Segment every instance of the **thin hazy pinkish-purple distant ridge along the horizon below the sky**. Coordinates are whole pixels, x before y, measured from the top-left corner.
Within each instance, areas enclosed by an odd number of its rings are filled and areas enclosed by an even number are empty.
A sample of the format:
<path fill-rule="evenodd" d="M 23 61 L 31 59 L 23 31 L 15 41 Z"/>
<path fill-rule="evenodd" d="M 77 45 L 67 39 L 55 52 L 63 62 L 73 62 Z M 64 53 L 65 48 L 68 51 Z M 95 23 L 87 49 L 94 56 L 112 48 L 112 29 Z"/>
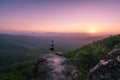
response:
<path fill-rule="evenodd" d="M 24 31 L 0 31 L 0 34 L 26 35 L 26 36 L 89 36 L 88 33 L 60 33 L 60 32 L 24 32 Z"/>

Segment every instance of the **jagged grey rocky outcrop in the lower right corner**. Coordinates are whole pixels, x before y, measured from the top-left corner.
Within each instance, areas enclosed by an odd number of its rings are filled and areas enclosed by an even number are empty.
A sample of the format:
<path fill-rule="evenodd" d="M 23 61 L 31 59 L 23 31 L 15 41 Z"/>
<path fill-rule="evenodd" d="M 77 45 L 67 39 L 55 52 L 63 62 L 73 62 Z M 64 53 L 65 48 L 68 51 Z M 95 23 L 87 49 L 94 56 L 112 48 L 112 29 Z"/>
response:
<path fill-rule="evenodd" d="M 100 60 L 90 70 L 89 80 L 120 80 L 120 49 L 114 49 L 108 55 L 109 60 Z"/>

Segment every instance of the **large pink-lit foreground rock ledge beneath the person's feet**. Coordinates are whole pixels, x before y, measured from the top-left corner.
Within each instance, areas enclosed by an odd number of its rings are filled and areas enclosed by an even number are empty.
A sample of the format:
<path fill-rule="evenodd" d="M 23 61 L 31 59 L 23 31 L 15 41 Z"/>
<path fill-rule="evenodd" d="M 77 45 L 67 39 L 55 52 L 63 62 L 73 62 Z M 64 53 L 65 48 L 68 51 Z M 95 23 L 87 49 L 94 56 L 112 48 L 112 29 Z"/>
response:
<path fill-rule="evenodd" d="M 77 71 L 69 60 L 56 54 L 40 55 L 32 80 L 77 80 Z"/>

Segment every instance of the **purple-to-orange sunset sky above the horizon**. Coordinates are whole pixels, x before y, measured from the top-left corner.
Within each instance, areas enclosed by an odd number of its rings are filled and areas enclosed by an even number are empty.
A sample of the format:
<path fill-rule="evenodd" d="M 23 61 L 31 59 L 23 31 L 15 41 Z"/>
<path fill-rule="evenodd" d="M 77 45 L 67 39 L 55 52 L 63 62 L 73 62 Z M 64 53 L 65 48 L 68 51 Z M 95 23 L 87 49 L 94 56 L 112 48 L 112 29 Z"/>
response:
<path fill-rule="evenodd" d="M 120 0 L 0 0 L 0 31 L 120 33 Z"/>

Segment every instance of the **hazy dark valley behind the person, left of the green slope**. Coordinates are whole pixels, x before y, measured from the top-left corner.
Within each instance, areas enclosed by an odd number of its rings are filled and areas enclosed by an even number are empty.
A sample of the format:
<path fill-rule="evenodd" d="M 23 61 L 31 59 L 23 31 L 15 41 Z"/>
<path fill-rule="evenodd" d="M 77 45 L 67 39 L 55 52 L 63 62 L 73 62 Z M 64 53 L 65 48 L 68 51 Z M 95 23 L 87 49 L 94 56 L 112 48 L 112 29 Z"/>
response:
<path fill-rule="evenodd" d="M 37 57 L 49 52 L 50 40 L 56 51 L 67 52 L 102 38 L 0 34 L 0 80 L 29 80 Z"/>

